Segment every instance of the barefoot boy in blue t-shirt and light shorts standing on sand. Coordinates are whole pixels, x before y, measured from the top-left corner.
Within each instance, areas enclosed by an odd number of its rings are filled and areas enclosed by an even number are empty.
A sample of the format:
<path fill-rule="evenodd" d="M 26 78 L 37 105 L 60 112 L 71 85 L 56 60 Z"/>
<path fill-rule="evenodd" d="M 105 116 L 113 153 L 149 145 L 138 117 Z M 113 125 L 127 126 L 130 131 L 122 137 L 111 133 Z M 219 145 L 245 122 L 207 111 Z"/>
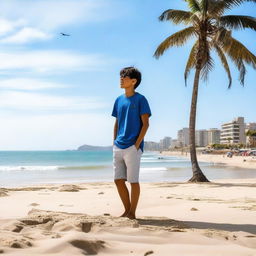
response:
<path fill-rule="evenodd" d="M 136 92 L 141 82 L 141 73 L 134 67 L 120 71 L 120 87 L 125 93 L 114 104 L 113 167 L 117 191 L 124 205 L 120 217 L 136 219 L 136 208 L 140 196 L 139 171 L 143 153 L 144 136 L 149 127 L 151 110 L 147 99 Z M 131 184 L 131 194 L 126 186 Z"/>

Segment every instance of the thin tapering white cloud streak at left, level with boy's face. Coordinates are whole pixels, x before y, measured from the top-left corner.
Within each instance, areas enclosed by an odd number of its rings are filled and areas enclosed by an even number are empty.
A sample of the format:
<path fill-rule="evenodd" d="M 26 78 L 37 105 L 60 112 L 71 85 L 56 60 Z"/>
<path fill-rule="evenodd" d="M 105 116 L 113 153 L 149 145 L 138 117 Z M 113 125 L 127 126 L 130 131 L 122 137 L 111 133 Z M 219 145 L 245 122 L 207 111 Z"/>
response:
<path fill-rule="evenodd" d="M 68 85 L 31 78 L 11 78 L 0 80 L 0 88 L 12 90 L 43 90 L 64 87 L 68 87 Z"/>

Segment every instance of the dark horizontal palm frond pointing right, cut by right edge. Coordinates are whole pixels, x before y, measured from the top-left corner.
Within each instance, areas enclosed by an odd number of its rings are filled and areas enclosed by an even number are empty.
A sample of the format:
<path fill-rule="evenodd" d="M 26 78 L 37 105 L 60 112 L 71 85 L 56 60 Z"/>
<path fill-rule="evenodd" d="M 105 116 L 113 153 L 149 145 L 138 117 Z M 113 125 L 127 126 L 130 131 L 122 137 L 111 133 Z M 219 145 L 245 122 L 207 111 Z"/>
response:
<path fill-rule="evenodd" d="M 250 28 L 256 30 L 256 18 L 251 16 L 226 15 L 219 19 L 220 25 L 227 29 Z"/>

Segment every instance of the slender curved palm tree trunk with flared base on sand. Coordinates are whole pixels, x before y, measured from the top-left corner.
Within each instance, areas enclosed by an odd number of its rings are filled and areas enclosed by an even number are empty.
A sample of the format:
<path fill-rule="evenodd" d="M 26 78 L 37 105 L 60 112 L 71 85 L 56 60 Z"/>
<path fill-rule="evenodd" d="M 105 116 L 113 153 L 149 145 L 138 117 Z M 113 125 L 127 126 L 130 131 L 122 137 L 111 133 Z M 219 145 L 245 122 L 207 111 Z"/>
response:
<path fill-rule="evenodd" d="M 191 109 L 190 109 L 190 121 L 189 121 L 189 144 L 190 144 L 190 158 L 192 164 L 193 177 L 189 182 L 209 182 L 201 171 L 196 157 L 196 138 L 195 138 L 195 127 L 196 127 L 196 108 L 197 108 L 197 97 L 198 97 L 198 86 L 200 79 L 201 69 L 197 68 L 194 79 Z"/>

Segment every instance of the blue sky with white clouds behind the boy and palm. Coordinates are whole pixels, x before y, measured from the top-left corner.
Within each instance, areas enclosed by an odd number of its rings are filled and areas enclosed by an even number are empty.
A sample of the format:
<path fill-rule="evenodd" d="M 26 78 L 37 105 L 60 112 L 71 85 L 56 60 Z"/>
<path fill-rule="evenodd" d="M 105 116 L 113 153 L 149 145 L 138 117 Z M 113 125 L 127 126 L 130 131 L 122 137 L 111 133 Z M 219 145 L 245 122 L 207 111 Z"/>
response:
<path fill-rule="evenodd" d="M 194 73 L 187 87 L 183 74 L 193 40 L 153 57 L 157 46 L 182 28 L 159 22 L 166 9 L 187 7 L 183 0 L 1 0 L 0 150 L 111 145 L 111 112 L 124 93 L 119 71 L 126 66 L 142 72 L 137 91 L 151 107 L 145 140 L 175 139 L 188 127 Z M 256 5 L 246 3 L 229 13 L 256 16 Z M 256 54 L 255 31 L 233 36 Z M 230 63 L 228 90 L 226 74 L 214 59 L 209 80 L 200 84 L 196 128 L 220 128 L 237 116 L 256 122 L 255 70 L 247 67 L 242 87 Z"/>

